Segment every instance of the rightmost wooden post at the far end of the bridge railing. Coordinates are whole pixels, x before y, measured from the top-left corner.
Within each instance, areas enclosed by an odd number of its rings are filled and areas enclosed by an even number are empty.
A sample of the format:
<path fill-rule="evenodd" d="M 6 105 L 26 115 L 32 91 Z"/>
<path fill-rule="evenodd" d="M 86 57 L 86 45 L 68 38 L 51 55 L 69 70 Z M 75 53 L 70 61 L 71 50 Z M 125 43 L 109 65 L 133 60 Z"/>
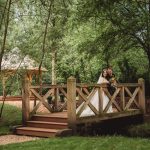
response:
<path fill-rule="evenodd" d="M 146 107 L 145 107 L 145 82 L 144 79 L 140 78 L 138 80 L 138 83 L 140 84 L 140 90 L 139 90 L 139 104 L 140 107 L 145 114 L 146 112 Z"/>

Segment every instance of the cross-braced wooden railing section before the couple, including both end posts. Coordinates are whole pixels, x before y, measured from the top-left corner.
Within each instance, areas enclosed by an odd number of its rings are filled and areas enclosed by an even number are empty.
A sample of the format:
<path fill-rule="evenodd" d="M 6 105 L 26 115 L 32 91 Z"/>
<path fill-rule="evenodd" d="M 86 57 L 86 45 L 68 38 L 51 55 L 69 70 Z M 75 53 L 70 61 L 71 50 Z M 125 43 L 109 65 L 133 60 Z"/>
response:
<path fill-rule="evenodd" d="M 115 91 L 110 94 L 107 84 L 77 84 L 76 79 L 70 77 L 67 81 L 67 110 L 68 122 L 71 128 L 81 118 L 98 118 L 107 113 L 123 113 L 127 111 L 140 110 L 145 113 L 145 89 L 144 80 L 138 83 L 118 83 Z M 78 108 L 76 109 L 76 98 L 78 97 Z M 92 101 L 97 100 L 95 105 Z M 104 106 L 105 98 L 108 102 Z M 110 111 L 111 110 L 111 111 Z M 84 113 L 90 112 L 90 115 Z M 83 115 L 82 115 L 83 114 Z"/>

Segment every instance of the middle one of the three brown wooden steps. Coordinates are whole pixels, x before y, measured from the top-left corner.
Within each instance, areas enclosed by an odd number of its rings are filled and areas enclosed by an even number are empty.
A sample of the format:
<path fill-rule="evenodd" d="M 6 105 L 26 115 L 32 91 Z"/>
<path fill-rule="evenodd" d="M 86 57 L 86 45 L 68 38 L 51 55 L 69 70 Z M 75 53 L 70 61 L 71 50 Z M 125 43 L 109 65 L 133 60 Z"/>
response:
<path fill-rule="evenodd" d="M 48 128 L 48 129 L 65 129 L 68 123 L 62 122 L 44 122 L 44 121 L 27 121 L 28 127 Z"/>

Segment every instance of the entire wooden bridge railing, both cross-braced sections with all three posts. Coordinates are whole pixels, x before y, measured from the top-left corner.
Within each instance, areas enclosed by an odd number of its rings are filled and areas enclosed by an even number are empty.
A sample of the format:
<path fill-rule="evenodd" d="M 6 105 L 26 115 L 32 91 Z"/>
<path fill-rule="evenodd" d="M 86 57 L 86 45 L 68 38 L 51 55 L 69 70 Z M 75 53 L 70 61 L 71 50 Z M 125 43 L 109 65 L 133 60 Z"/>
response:
<path fill-rule="evenodd" d="M 110 94 L 107 84 L 78 84 L 73 77 L 68 78 L 67 85 L 32 86 L 29 80 L 25 80 L 23 85 L 24 123 L 36 113 L 40 105 L 44 105 L 50 113 L 67 110 L 68 123 L 72 128 L 87 107 L 93 113 L 93 117 L 107 114 L 110 108 L 113 110 L 111 113 L 135 109 L 145 112 L 143 79 L 139 79 L 138 83 L 119 83 L 113 94 Z M 97 95 L 96 106 L 91 101 L 94 95 Z M 103 106 L 104 95 L 109 99 L 105 107 Z M 30 100 L 33 96 L 35 102 L 31 109 Z"/>

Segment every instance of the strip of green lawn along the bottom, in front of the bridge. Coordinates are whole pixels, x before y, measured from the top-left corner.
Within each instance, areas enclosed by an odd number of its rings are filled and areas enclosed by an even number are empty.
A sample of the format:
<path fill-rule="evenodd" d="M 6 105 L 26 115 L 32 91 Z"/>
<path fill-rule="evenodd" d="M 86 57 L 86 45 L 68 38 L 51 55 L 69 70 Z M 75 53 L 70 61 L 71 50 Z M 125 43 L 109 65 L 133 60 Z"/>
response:
<path fill-rule="evenodd" d="M 148 150 L 150 139 L 122 136 L 48 138 L 1 145 L 0 150 Z"/>

